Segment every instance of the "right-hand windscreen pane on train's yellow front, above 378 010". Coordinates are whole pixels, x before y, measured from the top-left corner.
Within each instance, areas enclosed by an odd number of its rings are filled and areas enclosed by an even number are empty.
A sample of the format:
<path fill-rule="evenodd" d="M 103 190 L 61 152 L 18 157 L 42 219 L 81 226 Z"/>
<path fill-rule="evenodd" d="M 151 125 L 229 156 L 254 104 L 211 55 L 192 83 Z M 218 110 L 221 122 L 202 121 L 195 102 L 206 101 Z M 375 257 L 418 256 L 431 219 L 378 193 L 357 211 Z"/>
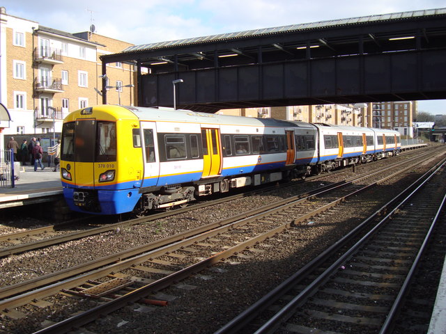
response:
<path fill-rule="evenodd" d="M 98 122 L 97 145 L 96 162 L 116 161 L 116 123 Z"/>

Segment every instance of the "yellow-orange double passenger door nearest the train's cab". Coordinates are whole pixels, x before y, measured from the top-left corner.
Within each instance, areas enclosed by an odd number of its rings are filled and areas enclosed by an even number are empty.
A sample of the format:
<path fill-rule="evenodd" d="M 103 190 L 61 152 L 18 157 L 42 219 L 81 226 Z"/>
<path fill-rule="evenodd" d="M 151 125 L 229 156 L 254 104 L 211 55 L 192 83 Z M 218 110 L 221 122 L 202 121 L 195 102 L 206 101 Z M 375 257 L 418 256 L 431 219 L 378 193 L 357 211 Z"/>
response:
<path fill-rule="evenodd" d="M 220 175 L 222 173 L 222 145 L 220 130 L 201 128 L 203 142 L 203 174 L 201 177 Z"/>

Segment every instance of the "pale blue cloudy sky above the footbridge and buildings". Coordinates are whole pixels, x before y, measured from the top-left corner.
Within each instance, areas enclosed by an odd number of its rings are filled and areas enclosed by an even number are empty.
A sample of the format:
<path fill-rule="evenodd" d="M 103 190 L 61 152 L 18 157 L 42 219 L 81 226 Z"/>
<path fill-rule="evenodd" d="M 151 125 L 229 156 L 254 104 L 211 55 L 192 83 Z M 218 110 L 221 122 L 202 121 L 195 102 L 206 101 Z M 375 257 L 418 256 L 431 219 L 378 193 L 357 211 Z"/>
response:
<path fill-rule="evenodd" d="M 331 19 L 445 8 L 445 0 L 2 0 L 8 15 L 135 45 Z M 418 111 L 446 115 L 446 100 Z"/>

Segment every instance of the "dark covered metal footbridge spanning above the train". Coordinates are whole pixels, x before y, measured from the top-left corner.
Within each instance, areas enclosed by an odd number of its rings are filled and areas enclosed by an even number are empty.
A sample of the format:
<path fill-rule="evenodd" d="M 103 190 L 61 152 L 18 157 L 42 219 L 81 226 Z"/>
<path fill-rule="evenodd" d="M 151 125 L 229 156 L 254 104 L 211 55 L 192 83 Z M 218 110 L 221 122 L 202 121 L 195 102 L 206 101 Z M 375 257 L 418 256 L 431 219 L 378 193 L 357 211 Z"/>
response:
<path fill-rule="evenodd" d="M 446 8 L 136 45 L 137 104 L 195 111 L 446 99 Z M 105 80 L 102 102 L 107 102 Z M 175 89 L 174 89 L 175 90 Z"/>

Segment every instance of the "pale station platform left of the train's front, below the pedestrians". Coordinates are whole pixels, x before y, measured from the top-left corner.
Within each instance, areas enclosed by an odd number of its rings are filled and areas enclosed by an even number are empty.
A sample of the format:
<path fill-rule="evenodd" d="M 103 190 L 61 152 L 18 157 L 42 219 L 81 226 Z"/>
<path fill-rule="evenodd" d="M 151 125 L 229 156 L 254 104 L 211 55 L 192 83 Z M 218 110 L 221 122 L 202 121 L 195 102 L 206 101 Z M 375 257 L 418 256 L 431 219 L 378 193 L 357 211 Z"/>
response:
<path fill-rule="evenodd" d="M 23 205 L 24 201 L 31 204 L 47 196 L 63 196 L 60 172 L 53 172 L 53 167 L 45 166 L 35 172 L 34 166 L 20 166 L 15 175 L 19 179 L 15 180 L 14 188 L 0 187 L 0 209 L 16 206 L 14 203 Z"/>

